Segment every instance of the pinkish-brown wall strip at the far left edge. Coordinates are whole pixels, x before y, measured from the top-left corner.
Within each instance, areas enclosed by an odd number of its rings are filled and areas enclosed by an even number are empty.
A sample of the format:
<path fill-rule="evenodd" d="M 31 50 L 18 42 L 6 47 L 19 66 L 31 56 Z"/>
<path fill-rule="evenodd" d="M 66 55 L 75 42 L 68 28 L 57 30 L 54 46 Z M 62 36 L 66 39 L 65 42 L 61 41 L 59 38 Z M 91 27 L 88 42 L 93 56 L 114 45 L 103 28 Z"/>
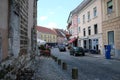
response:
<path fill-rule="evenodd" d="M 8 0 L 0 0 L 0 62 L 8 55 Z"/>

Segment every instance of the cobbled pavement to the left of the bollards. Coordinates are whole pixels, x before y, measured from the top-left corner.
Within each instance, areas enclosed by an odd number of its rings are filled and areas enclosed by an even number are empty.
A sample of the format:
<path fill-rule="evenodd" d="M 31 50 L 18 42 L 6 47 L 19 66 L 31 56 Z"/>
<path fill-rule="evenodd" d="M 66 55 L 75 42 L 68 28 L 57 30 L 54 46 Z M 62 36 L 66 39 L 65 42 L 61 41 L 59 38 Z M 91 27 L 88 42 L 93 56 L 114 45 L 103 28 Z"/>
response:
<path fill-rule="evenodd" d="M 50 57 L 39 57 L 34 68 L 34 80 L 71 80 L 70 75 Z"/>

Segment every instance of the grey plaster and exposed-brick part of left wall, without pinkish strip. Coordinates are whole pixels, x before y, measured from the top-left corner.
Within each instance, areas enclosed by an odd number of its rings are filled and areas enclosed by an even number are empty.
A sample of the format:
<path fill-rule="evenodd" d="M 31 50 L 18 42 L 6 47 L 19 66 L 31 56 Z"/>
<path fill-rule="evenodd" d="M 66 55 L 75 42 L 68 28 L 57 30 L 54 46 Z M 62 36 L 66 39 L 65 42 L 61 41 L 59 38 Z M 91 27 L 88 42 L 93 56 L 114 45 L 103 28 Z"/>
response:
<path fill-rule="evenodd" d="M 17 57 L 36 49 L 37 0 L 11 0 L 9 3 L 9 51 Z"/>

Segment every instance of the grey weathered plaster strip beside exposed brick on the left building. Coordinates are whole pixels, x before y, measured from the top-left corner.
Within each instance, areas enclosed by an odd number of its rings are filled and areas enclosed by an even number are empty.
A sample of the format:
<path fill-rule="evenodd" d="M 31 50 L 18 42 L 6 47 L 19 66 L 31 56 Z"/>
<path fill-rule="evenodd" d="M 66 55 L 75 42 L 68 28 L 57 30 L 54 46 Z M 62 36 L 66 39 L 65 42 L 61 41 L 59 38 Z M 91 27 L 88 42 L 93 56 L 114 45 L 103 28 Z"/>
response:
<path fill-rule="evenodd" d="M 20 4 L 18 0 L 9 1 L 9 55 L 18 56 L 20 50 Z"/>

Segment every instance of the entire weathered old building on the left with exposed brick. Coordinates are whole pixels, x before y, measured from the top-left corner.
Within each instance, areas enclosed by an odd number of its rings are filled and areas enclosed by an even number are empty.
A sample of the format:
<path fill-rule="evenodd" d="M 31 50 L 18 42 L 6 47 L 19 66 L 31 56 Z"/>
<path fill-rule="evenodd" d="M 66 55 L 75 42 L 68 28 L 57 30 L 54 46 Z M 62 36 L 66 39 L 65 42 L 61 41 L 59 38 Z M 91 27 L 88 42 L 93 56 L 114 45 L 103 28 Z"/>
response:
<path fill-rule="evenodd" d="M 36 50 L 37 0 L 1 0 L 0 61 Z"/>

